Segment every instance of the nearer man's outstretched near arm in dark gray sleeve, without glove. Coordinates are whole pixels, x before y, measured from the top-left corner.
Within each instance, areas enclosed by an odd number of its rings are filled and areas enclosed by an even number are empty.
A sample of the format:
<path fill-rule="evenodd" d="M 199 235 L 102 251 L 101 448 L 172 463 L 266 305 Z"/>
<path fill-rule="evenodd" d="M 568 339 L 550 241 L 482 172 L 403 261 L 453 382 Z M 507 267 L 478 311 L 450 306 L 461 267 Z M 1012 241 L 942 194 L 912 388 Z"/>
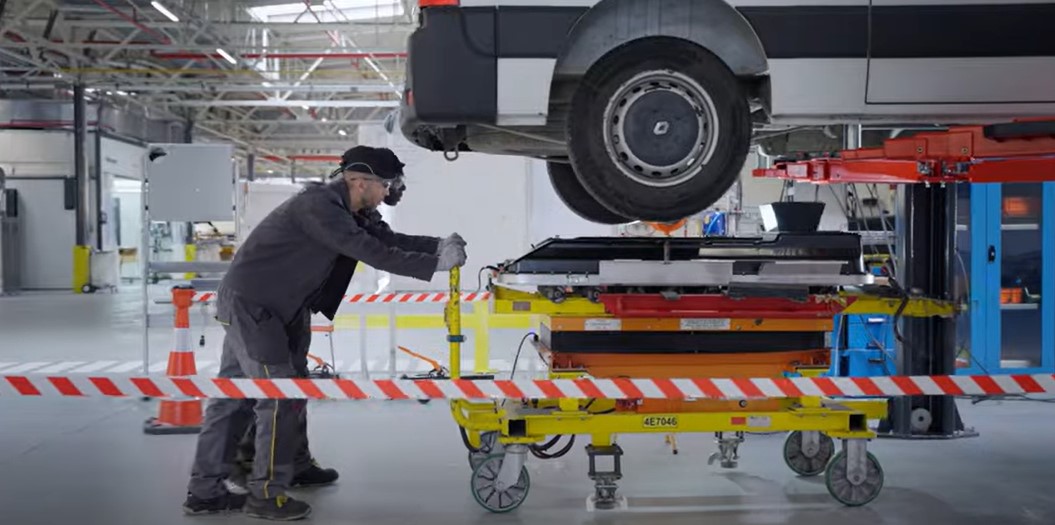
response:
<path fill-rule="evenodd" d="M 305 235 L 337 253 L 378 270 L 430 280 L 439 258 L 389 246 L 364 230 L 344 208 L 340 197 L 325 189 L 308 190 L 295 197 L 290 212 Z"/>

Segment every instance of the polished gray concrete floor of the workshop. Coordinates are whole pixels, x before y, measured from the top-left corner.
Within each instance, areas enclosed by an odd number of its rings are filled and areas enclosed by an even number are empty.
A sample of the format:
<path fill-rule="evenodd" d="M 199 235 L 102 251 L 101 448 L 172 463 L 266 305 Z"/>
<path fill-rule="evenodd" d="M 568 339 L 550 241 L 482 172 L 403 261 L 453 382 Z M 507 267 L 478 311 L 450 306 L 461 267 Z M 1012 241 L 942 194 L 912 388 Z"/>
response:
<path fill-rule="evenodd" d="M 35 362 L 135 361 L 136 300 L 124 293 L 0 297 L 0 374 L 4 367 L 33 373 L 41 367 L 24 364 Z M 153 331 L 155 347 L 166 348 L 168 329 Z M 517 341 L 509 334 L 495 346 Z M 592 485 L 580 441 L 561 460 L 531 461 L 526 502 L 497 516 L 469 495 L 465 451 L 442 404 L 316 403 L 312 449 L 342 479 L 295 495 L 313 504 L 310 520 L 320 524 L 1055 523 L 1055 404 L 964 401 L 961 408 L 979 438 L 870 444 L 886 483 L 862 508 L 836 503 L 822 479 L 791 473 L 781 460 L 781 435 L 749 435 L 736 470 L 707 465 L 713 451 L 707 435 L 679 438 L 678 455 L 660 436 L 628 435 L 619 440 L 628 510 L 587 511 Z M 141 423 L 155 410 L 152 402 L 132 400 L 0 396 L 0 523 L 258 523 L 181 514 L 194 438 L 145 435 Z"/>

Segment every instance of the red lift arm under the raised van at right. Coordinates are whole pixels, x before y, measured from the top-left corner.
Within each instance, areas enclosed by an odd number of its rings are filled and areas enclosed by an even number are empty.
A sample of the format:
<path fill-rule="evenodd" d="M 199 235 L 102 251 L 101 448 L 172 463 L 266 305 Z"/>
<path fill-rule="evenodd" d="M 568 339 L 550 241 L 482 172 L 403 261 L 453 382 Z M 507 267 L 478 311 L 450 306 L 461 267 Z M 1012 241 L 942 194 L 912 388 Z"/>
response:
<path fill-rule="evenodd" d="M 951 128 L 838 156 L 778 161 L 755 177 L 814 183 L 1055 180 L 1055 119 Z"/>

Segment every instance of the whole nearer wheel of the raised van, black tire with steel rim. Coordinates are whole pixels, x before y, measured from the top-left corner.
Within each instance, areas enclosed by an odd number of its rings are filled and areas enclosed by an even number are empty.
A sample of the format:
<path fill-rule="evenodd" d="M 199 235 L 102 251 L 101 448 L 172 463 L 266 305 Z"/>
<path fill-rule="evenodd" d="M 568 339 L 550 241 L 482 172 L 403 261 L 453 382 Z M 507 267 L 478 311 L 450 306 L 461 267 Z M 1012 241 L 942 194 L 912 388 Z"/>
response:
<path fill-rule="evenodd" d="M 683 219 L 721 198 L 751 140 L 736 77 L 710 52 L 673 38 L 631 42 L 594 64 L 568 122 L 586 190 L 612 212 L 654 221 Z"/>

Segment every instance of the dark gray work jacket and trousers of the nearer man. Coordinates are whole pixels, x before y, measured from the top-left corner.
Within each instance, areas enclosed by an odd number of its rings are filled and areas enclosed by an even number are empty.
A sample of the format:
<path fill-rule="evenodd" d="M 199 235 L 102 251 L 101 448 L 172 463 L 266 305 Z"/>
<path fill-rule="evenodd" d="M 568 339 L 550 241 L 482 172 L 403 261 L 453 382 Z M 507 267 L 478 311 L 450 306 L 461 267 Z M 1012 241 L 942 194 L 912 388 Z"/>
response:
<path fill-rule="evenodd" d="M 216 319 L 226 333 L 220 375 L 303 375 L 301 352 L 310 337 L 305 318 L 319 312 L 333 319 L 359 261 L 430 280 L 439 240 L 395 233 L 384 222 L 352 213 L 344 179 L 309 186 L 253 230 L 220 283 Z M 303 443 L 299 422 L 305 405 L 304 400 L 211 400 L 188 490 L 202 499 L 224 494 L 223 481 L 244 435 L 238 429 L 246 428 L 245 417 L 255 416 L 249 491 L 260 499 L 284 494 Z"/>

